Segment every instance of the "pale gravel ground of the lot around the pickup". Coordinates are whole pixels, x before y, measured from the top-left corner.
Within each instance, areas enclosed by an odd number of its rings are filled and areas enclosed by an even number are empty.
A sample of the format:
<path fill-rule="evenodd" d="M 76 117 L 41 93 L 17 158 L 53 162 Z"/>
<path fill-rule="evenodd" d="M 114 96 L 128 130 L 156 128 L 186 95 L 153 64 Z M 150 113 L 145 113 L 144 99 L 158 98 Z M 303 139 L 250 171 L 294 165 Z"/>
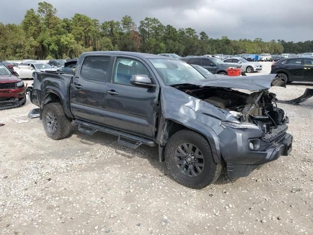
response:
<path fill-rule="evenodd" d="M 267 74 L 271 63 L 262 64 L 248 75 Z M 271 91 L 292 99 L 308 87 Z M 0 234 L 312 235 L 313 98 L 279 106 L 290 118 L 291 154 L 201 190 L 169 177 L 157 148 L 132 150 L 75 126 L 53 141 L 39 118 L 27 118 L 29 100 L 0 111 Z"/>

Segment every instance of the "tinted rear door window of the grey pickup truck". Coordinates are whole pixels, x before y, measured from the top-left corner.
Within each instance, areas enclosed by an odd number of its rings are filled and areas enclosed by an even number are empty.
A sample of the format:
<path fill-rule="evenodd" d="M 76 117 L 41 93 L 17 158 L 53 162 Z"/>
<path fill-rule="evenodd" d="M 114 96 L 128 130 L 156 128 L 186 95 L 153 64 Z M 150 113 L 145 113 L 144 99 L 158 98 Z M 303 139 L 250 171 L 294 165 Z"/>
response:
<path fill-rule="evenodd" d="M 110 70 L 110 56 L 88 56 L 85 58 L 81 75 L 85 78 L 106 81 Z"/>

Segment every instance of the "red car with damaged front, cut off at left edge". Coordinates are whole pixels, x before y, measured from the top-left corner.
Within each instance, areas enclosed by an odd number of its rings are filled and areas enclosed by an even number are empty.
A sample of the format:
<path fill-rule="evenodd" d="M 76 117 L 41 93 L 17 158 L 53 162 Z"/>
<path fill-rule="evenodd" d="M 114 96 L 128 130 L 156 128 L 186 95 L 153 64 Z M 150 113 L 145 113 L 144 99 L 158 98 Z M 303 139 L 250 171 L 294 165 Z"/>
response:
<path fill-rule="evenodd" d="M 26 86 L 5 65 L 0 64 L 0 110 L 15 108 L 26 103 Z"/>

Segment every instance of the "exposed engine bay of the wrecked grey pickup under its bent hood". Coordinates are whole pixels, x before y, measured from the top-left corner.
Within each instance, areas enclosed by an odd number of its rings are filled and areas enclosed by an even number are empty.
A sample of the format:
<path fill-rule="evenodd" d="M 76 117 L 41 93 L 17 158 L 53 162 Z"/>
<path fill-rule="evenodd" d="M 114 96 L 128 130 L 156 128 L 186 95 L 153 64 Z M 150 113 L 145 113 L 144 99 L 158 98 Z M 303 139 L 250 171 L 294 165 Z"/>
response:
<path fill-rule="evenodd" d="M 284 110 L 276 105 L 276 95 L 261 90 L 251 94 L 228 88 L 179 86 L 180 91 L 224 109 L 241 122 L 257 125 L 265 134 L 270 134 L 282 124 L 288 123 Z"/>

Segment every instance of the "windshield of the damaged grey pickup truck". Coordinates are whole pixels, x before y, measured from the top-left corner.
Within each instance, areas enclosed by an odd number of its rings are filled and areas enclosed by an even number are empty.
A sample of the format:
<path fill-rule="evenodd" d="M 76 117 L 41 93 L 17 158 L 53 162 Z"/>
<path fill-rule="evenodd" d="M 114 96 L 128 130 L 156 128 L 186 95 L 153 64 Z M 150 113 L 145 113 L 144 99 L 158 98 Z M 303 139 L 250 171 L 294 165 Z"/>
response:
<path fill-rule="evenodd" d="M 205 79 L 200 72 L 186 62 L 156 58 L 150 58 L 149 60 L 166 86 Z"/>

